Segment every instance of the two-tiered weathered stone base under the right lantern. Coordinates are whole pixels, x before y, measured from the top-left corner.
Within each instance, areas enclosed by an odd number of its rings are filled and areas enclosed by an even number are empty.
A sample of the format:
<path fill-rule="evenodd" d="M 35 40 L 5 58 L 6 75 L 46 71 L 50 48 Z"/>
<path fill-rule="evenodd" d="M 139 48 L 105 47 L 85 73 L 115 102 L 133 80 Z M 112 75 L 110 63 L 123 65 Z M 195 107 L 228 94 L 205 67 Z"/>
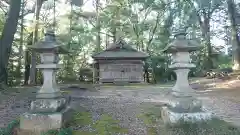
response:
<path fill-rule="evenodd" d="M 199 100 L 192 96 L 175 96 L 168 106 L 162 107 L 161 117 L 165 124 L 175 126 L 181 122 L 201 122 L 211 120 L 212 113 L 204 112 Z"/>

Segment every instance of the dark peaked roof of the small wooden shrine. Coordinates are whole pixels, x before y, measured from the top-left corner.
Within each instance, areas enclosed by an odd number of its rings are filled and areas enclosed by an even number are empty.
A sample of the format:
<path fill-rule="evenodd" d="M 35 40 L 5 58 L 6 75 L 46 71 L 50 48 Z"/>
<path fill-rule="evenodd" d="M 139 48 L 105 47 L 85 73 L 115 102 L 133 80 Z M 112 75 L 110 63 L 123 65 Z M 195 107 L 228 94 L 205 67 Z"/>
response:
<path fill-rule="evenodd" d="M 138 58 L 145 59 L 148 55 L 144 52 L 137 51 L 120 39 L 114 44 L 111 44 L 106 50 L 92 56 L 94 59 L 119 59 L 119 58 Z"/>

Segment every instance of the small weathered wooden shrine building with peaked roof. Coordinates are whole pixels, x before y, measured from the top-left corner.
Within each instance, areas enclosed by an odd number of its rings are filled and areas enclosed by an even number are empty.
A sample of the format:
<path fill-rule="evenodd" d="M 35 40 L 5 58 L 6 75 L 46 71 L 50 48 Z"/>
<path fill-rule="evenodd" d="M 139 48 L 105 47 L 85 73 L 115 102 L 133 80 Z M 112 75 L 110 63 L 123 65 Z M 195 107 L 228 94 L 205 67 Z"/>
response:
<path fill-rule="evenodd" d="M 99 83 L 144 82 L 143 66 L 147 57 L 122 39 L 92 56 Z"/>

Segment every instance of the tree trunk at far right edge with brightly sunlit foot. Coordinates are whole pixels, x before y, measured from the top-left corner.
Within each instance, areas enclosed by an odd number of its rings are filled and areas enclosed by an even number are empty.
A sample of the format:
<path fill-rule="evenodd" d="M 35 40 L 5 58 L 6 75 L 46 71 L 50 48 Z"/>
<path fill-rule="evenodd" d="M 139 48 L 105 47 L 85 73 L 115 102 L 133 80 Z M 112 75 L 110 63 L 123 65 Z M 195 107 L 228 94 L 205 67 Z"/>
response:
<path fill-rule="evenodd" d="M 236 22 L 236 5 L 233 0 L 227 0 L 228 16 L 232 29 L 232 46 L 233 46 L 233 70 L 240 70 L 240 40 L 237 34 Z"/>

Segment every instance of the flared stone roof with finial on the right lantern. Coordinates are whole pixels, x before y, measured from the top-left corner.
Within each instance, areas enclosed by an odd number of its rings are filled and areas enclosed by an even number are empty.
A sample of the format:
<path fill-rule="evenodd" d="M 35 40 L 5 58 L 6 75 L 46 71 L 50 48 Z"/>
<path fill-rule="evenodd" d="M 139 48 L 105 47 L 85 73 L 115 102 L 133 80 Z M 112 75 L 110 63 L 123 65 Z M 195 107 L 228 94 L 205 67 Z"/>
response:
<path fill-rule="evenodd" d="M 185 32 L 179 32 L 175 34 L 175 40 L 167 45 L 163 52 L 165 53 L 176 53 L 176 52 L 192 52 L 202 48 L 200 44 L 198 44 L 194 40 L 186 39 Z"/>

